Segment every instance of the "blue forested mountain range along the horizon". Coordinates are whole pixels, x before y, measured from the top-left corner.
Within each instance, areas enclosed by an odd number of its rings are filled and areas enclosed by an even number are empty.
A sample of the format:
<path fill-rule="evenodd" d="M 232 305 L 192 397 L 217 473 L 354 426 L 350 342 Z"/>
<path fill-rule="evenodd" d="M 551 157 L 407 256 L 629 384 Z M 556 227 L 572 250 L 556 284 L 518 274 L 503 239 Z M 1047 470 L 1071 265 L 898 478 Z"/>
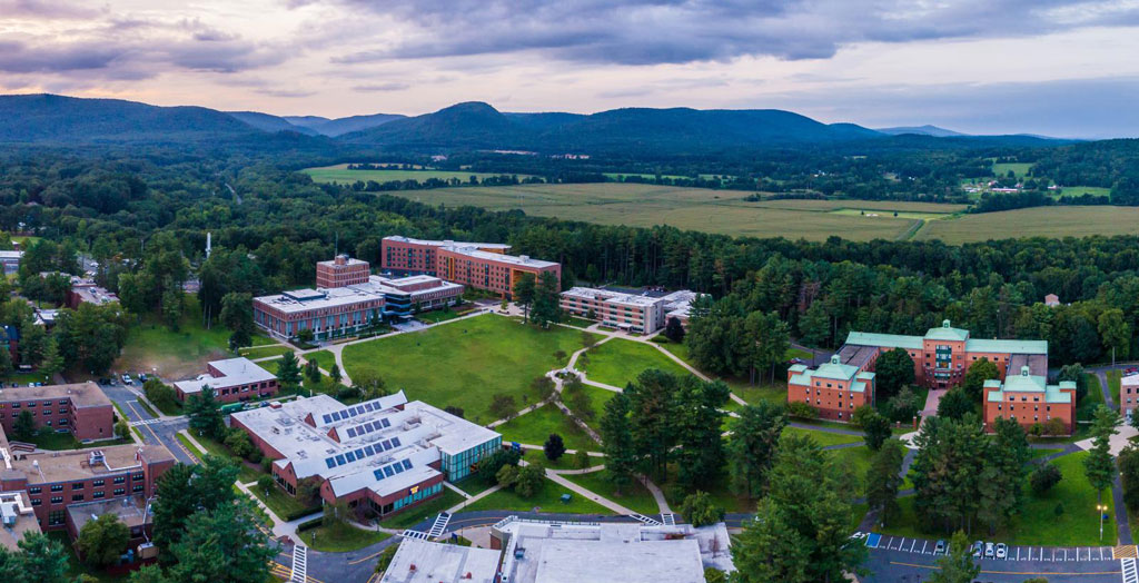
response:
<path fill-rule="evenodd" d="M 349 149 L 622 155 L 714 154 L 916 137 L 921 137 L 921 143 L 931 138 L 937 139 L 933 143 L 942 139 L 973 139 L 932 125 L 871 130 L 850 123 L 826 124 L 779 109 L 622 108 L 585 115 L 502 113 L 487 104 L 472 101 L 412 117 L 374 114 L 333 120 L 205 107 L 158 107 L 118 99 L 0 96 L 0 142 L 208 143 L 269 137 L 274 137 L 278 145 L 287 142 L 306 148 L 330 145 Z M 1009 138 L 1017 143 L 1039 139 Z"/>

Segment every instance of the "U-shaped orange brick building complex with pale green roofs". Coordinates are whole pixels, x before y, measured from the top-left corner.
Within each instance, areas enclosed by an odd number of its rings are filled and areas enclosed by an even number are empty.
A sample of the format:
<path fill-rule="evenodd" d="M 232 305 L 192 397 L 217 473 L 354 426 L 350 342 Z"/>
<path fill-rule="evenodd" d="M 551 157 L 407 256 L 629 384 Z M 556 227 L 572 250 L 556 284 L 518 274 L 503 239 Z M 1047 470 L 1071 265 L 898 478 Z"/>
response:
<path fill-rule="evenodd" d="M 1048 385 L 1048 343 L 970 338 L 949 320 L 925 336 L 850 332 L 830 362 L 817 369 L 795 364 L 787 370 L 787 399 L 810 404 L 826 419 L 849 420 L 854 409 L 875 402 L 875 363 L 884 352 L 901 348 L 913 361 L 916 383 L 947 389 L 961 384 L 982 359 L 997 364 L 999 378 L 984 387 L 984 421 L 1015 418 L 1021 425 L 1059 418 L 1071 432 L 1075 424 L 1075 385 Z"/>

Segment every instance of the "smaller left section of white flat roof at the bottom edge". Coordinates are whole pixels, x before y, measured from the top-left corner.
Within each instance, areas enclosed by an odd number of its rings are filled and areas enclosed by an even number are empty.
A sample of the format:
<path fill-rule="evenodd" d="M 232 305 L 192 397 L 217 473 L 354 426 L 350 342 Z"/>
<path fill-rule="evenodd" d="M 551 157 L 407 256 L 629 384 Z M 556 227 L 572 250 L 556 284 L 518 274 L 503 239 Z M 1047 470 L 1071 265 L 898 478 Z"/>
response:
<path fill-rule="evenodd" d="M 403 539 L 380 583 L 493 583 L 501 551 Z M 467 577 L 467 574 L 470 577 Z M 579 582 L 585 583 L 585 582 Z"/>

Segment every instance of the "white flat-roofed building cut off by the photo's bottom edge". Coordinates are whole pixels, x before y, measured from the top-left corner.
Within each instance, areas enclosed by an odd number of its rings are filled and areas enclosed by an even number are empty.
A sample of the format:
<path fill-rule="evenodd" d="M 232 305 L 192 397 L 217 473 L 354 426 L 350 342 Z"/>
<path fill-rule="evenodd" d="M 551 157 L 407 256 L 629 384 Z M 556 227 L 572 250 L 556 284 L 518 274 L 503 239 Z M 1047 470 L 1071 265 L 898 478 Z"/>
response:
<path fill-rule="evenodd" d="M 734 570 L 716 526 L 526 520 L 490 532 L 490 549 L 404 539 L 380 583 L 703 583 Z"/>

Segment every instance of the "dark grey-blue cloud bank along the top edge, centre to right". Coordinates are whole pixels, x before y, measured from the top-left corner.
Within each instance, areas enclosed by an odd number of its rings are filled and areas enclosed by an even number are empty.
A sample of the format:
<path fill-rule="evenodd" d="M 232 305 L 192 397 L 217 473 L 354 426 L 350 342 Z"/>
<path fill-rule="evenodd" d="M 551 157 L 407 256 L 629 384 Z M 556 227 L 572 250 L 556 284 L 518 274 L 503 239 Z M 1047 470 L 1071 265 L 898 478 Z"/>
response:
<path fill-rule="evenodd" d="M 401 23 L 401 39 L 341 63 L 540 51 L 583 63 L 724 61 L 746 55 L 831 57 L 863 41 L 1035 35 L 1128 26 L 1112 0 L 325 0 Z M 297 3 L 294 0 L 294 3 Z"/>

